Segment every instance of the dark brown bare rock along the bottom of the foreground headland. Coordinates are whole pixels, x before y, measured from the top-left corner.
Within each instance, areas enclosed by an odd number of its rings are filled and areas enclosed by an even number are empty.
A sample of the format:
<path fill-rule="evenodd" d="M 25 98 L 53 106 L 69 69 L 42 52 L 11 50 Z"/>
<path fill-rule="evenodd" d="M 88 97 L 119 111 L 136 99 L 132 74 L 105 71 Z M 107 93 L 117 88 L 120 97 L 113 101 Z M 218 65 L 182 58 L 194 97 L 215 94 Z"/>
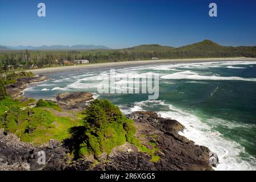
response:
<path fill-rule="evenodd" d="M 178 121 L 162 118 L 153 111 L 137 111 L 129 117 L 135 121 L 135 137 L 151 150 L 153 146 L 149 143 L 155 144 L 157 161 L 127 142 L 113 148 L 109 155 L 103 153 L 76 160 L 67 154 L 69 147 L 58 140 L 33 146 L 0 130 L 0 170 L 213 170 L 209 163 L 212 152 L 179 135 L 178 131 L 185 127 Z M 38 163 L 42 151 L 45 165 Z"/>

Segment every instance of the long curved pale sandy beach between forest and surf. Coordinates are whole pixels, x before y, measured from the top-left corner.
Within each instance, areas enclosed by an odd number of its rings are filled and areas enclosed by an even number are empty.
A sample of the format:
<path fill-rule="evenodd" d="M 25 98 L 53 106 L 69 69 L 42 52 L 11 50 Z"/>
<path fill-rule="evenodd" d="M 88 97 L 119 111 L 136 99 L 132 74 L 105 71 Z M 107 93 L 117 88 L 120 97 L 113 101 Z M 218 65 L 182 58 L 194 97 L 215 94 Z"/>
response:
<path fill-rule="evenodd" d="M 96 63 L 96 64 L 82 64 L 71 65 L 64 67 L 53 68 L 39 68 L 30 69 L 34 74 L 54 73 L 63 71 L 74 71 L 78 69 L 101 69 L 101 68 L 118 68 L 118 67 L 133 67 L 139 65 L 150 64 L 165 64 L 165 63 L 202 63 L 202 62 L 214 62 L 214 61 L 251 61 L 256 60 L 255 57 L 220 57 L 220 58 L 193 58 L 193 59 L 165 59 L 165 60 L 143 60 L 143 61 L 123 61 L 123 62 L 111 62 L 111 63 Z"/>

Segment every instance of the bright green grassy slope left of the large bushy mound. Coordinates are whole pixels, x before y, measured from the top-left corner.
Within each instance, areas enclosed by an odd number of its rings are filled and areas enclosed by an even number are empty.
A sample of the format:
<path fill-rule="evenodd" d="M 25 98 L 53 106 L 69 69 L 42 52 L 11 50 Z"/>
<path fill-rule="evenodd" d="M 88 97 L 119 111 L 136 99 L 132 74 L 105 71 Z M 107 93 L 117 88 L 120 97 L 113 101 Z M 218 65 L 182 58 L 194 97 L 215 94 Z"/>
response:
<path fill-rule="evenodd" d="M 70 127 L 82 125 L 79 117 L 59 117 L 45 107 L 30 108 L 31 102 L 34 100 L 20 102 L 9 97 L 0 101 L 0 127 L 16 134 L 24 142 L 37 145 L 50 139 L 62 141 L 70 137 Z M 59 110 L 57 106 L 46 107 Z"/>

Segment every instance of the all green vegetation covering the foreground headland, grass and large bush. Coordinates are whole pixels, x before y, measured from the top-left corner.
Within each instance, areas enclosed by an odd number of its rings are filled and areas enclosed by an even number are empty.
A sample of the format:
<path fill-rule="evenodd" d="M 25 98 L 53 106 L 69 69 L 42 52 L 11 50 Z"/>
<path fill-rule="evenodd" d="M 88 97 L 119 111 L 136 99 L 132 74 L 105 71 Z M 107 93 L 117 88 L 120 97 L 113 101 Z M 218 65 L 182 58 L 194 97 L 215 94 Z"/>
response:
<path fill-rule="evenodd" d="M 6 133 L 14 133 L 24 142 L 35 145 L 50 139 L 73 139 L 71 151 L 76 158 L 91 154 L 98 156 L 102 152 L 110 154 L 114 147 L 129 142 L 149 154 L 152 157 L 151 162 L 159 160 L 159 156 L 155 155 L 158 150 L 155 143 L 147 144 L 152 146 L 150 148 L 153 149 L 150 150 L 141 140 L 134 137 L 136 129 L 133 121 L 127 119 L 117 106 L 107 100 L 98 100 L 96 107 L 91 105 L 82 113 L 69 113 L 70 117 L 67 117 L 67 112 L 63 113 L 66 117 L 62 117 L 63 111 L 54 102 L 40 100 L 36 107 L 30 107 L 34 102 L 33 99 L 20 102 L 10 97 L 1 100 L 0 128 L 4 128 Z M 95 119 L 98 112 L 101 114 Z"/>

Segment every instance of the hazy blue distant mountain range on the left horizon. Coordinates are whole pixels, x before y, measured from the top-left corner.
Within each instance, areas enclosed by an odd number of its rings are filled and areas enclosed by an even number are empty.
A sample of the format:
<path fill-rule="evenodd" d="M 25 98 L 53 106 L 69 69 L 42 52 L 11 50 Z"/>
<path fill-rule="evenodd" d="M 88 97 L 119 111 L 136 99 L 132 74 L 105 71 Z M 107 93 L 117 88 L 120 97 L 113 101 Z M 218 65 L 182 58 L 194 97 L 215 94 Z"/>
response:
<path fill-rule="evenodd" d="M 91 50 L 91 49 L 110 49 L 106 46 L 94 46 L 94 45 L 74 45 L 74 46 L 1 46 L 0 50 Z"/>

